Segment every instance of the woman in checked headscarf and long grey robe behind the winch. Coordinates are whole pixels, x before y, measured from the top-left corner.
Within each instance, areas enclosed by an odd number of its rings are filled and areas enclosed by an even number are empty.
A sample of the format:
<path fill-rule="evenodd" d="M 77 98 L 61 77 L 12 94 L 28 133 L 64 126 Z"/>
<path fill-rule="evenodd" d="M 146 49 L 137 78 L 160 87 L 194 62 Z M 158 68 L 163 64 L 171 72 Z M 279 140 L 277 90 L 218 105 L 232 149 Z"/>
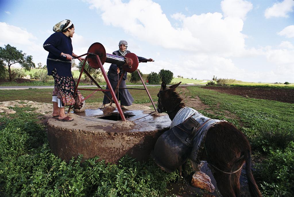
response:
<path fill-rule="evenodd" d="M 126 54 L 130 53 L 130 51 L 126 50 L 128 47 L 128 43 L 125 40 L 119 41 L 118 47 L 119 47 L 119 50 L 114 51 L 112 53 L 113 55 L 124 57 Z M 140 61 L 153 62 L 152 58 L 146 59 L 146 58 L 138 57 L 138 60 L 139 62 Z M 116 65 L 116 64 L 110 65 L 107 76 L 113 91 L 116 89 L 118 80 L 121 78 L 122 73 L 123 73 L 122 65 Z M 125 72 L 123 79 L 121 83 L 119 84 L 119 88 L 126 88 L 126 79 L 127 79 L 127 72 Z M 109 89 L 108 86 L 106 86 L 106 89 Z M 110 92 L 105 92 L 105 93 L 108 94 L 110 98 L 112 98 Z M 121 101 L 121 109 L 128 109 L 126 106 L 130 106 L 134 101 L 132 95 L 129 93 L 127 89 L 119 89 L 118 95 L 116 93 L 116 98 Z M 103 104 L 99 108 L 103 109 L 105 105 L 108 103 L 110 103 L 110 100 L 107 98 L 106 95 L 104 95 Z"/>

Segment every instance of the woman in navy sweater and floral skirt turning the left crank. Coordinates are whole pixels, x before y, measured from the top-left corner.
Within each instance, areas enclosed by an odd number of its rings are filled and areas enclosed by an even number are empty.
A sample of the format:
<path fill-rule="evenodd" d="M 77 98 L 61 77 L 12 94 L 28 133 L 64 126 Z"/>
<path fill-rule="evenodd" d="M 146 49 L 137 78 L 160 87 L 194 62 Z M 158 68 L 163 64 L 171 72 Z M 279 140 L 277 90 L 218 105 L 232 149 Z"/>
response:
<path fill-rule="evenodd" d="M 76 83 L 71 74 L 72 57 L 78 57 L 73 53 L 71 37 L 74 35 L 74 24 L 70 20 L 63 20 L 53 27 L 52 34 L 45 42 L 44 49 L 49 52 L 47 57 L 48 75 L 54 78 L 54 90 L 52 94 L 53 117 L 61 121 L 73 121 L 66 116 L 64 106 L 74 105 L 74 109 L 81 109 L 83 96 L 77 91 L 74 97 Z M 82 61 L 84 58 L 78 58 Z"/>

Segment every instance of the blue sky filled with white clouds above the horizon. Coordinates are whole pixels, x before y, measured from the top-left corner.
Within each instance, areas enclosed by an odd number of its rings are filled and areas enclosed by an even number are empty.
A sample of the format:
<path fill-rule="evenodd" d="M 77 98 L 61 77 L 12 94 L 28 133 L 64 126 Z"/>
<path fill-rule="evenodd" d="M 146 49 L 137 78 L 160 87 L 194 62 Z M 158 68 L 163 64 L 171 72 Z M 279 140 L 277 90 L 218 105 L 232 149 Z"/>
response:
<path fill-rule="evenodd" d="M 126 40 L 128 50 L 155 60 L 140 63 L 145 74 L 164 68 L 184 78 L 294 83 L 293 9 L 293 0 L 1 0 L 0 46 L 44 65 L 44 41 L 70 19 L 78 55 L 94 42 L 112 53 Z"/>

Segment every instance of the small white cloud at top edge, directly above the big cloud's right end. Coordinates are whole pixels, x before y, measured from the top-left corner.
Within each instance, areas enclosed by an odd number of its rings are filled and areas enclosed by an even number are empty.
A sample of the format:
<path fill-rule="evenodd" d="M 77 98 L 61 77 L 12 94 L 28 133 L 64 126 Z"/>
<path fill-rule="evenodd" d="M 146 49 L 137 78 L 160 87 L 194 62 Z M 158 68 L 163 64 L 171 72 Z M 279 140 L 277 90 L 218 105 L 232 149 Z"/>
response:
<path fill-rule="evenodd" d="M 224 17 L 236 17 L 244 20 L 253 8 L 252 3 L 243 0 L 223 0 L 220 3 Z"/>

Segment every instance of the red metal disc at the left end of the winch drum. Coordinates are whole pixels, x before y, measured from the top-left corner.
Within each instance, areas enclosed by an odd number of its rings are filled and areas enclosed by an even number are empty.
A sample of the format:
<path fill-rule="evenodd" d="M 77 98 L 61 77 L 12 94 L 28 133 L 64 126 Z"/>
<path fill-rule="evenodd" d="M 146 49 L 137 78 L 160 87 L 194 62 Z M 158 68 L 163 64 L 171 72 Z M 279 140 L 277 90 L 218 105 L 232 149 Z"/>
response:
<path fill-rule="evenodd" d="M 93 43 L 89 47 L 88 53 L 94 53 L 95 55 L 98 55 L 102 65 L 105 63 L 106 51 L 105 51 L 104 46 L 101 43 L 99 43 L 99 42 Z M 98 64 L 96 58 L 91 55 L 87 55 L 87 56 L 88 56 L 87 61 L 88 61 L 89 66 L 91 66 L 92 68 L 95 68 L 95 69 L 99 68 L 99 64 Z"/>

